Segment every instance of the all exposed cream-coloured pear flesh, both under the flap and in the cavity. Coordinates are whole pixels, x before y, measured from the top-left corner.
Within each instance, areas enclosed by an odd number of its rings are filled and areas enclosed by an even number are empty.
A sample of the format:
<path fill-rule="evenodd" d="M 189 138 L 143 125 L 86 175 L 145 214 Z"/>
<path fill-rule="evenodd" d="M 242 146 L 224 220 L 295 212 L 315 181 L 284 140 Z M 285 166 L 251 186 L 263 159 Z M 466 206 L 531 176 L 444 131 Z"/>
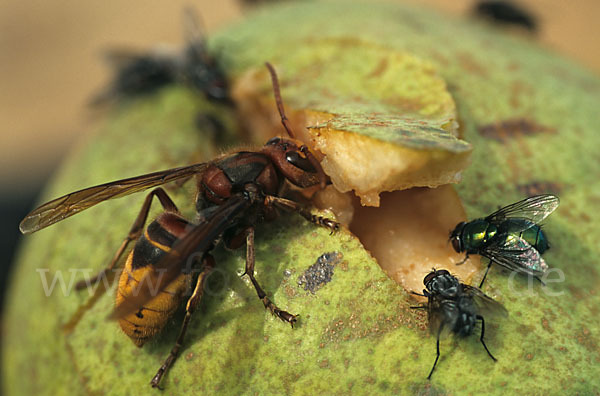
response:
<path fill-rule="evenodd" d="M 255 91 L 256 74 L 241 80 L 236 96 L 253 140 L 266 141 L 281 135 L 282 127 L 272 98 L 264 99 Z M 311 127 L 327 125 L 331 114 L 289 105 L 286 113 L 297 138 L 317 154 L 333 182 L 314 195 L 313 203 L 348 225 L 388 276 L 406 290 L 418 292 L 433 267 L 450 269 L 464 282 L 472 280 L 481 268 L 479 258 L 471 257 L 457 266 L 464 254 L 456 253 L 448 243 L 449 232 L 466 220 L 454 188 L 414 187 L 438 186 L 441 174 L 445 183 L 457 182 L 468 163 L 468 152 L 450 159 L 442 151 L 414 150 L 327 126 Z M 393 192 L 383 192 L 388 189 Z"/>

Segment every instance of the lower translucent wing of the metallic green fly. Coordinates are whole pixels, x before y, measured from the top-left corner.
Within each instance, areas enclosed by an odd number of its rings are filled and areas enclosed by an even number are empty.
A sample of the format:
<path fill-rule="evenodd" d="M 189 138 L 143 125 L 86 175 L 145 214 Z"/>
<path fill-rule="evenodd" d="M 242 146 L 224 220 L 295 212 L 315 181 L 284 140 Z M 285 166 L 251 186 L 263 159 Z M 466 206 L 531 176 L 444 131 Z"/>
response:
<path fill-rule="evenodd" d="M 548 265 L 526 240 L 514 234 L 498 237 L 501 242 L 486 246 L 480 254 L 503 267 L 529 275 L 542 276 Z"/>

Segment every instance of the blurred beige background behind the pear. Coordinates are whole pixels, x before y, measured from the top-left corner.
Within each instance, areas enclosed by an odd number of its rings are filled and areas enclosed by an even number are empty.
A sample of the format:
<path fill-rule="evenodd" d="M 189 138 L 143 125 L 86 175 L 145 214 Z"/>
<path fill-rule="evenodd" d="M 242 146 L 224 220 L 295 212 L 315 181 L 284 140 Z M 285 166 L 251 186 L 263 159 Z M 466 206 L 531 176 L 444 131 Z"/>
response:
<path fill-rule="evenodd" d="M 391 0 L 394 1 L 394 0 Z M 398 0 L 395 0 L 398 1 Z M 467 14 L 473 0 L 413 0 Z M 537 40 L 600 72 L 600 1 L 521 0 L 540 19 Z M 181 10 L 200 10 L 207 30 L 250 12 L 236 0 L 4 0 L 0 3 L 0 183 L 39 184 L 89 130 L 85 103 L 109 78 L 111 46 L 180 45 Z M 293 23 L 293 21 L 290 21 Z"/>

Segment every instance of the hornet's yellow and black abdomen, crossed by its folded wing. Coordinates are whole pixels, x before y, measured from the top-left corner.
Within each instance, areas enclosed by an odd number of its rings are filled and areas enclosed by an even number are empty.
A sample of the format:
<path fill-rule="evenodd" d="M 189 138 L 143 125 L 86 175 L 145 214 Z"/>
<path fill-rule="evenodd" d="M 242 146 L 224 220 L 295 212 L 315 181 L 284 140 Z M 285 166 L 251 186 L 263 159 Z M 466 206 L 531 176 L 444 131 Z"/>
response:
<path fill-rule="evenodd" d="M 144 279 L 146 273 L 153 270 L 152 266 L 170 251 L 177 239 L 160 224 L 160 220 L 164 219 L 159 218 L 148 226 L 127 257 L 125 268 L 119 278 L 117 306 L 135 295 L 136 290 L 139 290 L 140 287 L 157 286 L 140 285 L 140 281 Z M 134 344 L 141 347 L 148 339 L 162 330 L 179 307 L 182 296 L 189 288 L 191 277 L 190 274 L 182 273 L 162 290 L 156 290 L 156 297 L 139 311 L 119 319 L 121 329 Z"/>

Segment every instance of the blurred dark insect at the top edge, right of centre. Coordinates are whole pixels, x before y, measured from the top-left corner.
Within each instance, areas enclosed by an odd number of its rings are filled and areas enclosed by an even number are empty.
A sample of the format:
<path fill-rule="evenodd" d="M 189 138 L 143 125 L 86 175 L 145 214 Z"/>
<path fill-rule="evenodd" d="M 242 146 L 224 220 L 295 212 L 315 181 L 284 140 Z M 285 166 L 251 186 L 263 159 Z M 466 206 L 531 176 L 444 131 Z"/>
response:
<path fill-rule="evenodd" d="M 536 18 L 515 3 L 506 0 L 484 0 L 475 5 L 476 15 L 495 23 L 523 27 L 530 32 L 537 30 Z"/>

